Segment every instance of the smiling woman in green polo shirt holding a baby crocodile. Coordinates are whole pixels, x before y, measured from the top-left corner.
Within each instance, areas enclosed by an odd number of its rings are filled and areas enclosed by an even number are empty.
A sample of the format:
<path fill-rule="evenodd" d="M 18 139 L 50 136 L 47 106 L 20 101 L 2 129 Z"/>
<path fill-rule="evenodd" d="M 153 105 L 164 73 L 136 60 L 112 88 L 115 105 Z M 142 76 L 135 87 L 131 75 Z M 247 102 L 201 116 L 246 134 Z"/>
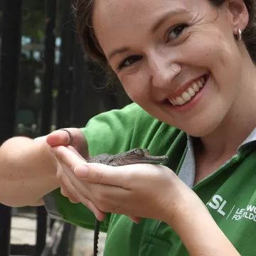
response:
<path fill-rule="evenodd" d="M 9 139 L 0 201 L 35 205 L 53 191 L 46 208 L 85 228 L 89 208 L 108 233 L 105 255 L 256 255 L 255 3 L 76 1 L 85 50 L 134 103 L 46 141 Z M 134 147 L 170 160 L 84 160 Z"/>

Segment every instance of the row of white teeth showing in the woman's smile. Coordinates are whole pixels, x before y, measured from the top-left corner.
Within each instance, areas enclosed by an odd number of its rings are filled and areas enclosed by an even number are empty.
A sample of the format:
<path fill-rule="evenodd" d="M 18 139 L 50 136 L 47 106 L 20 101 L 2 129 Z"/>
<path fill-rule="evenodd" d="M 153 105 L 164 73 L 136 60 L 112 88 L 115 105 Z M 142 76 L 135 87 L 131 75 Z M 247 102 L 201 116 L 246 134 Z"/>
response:
<path fill-rule="evenodd" d="M 205 84 L 206 80 L 202 77 L 197 82 L 193 82 L 191 87 L 188 88 L 185 92 L 182 93 L 180 97 L 176 97 L 175 99 L 168 99 L 171 102 L 171 105 L 184 105 L 186 102 L 191 100 L 193 96 L 196 95 L 203 85 Z"/>

